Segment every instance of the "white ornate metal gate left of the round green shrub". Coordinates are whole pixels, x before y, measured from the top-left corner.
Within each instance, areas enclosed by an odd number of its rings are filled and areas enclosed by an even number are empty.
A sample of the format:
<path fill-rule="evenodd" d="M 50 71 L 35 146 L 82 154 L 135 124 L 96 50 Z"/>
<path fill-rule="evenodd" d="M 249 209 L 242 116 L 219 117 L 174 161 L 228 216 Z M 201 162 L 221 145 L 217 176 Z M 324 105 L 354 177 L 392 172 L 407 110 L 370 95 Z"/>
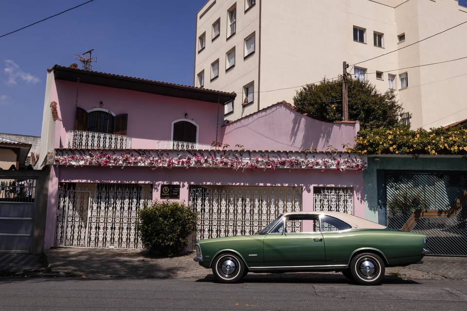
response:
<path fill-rule="evenodd" d="M 55 245 L 143 248 L 136 222 L 151 195 L 150 185 L 60 184 Z"/>

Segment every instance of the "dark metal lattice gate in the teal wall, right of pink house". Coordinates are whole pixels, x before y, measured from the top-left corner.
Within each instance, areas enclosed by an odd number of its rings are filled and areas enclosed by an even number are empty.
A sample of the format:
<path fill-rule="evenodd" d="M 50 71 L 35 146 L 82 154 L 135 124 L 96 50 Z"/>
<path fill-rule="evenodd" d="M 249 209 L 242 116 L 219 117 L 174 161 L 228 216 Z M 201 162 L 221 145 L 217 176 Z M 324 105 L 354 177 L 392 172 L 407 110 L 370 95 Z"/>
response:
<path fill-rule="evenodd" d="M 388 227 L 420 232 L 433 255 L 467 256 L 467 174 L 385 173 Z"/>

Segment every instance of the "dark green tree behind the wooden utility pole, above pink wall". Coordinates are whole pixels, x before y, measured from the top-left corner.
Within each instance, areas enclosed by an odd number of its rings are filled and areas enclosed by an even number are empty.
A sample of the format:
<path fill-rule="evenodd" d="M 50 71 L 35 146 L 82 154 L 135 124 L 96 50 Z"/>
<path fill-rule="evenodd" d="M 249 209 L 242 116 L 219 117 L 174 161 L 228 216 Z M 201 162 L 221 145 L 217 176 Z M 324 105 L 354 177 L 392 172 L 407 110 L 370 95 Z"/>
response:
<path fill-rule="evenodd" d="M 368 81 L 347 79 L 349 120 L 360 121 L 362 128 L 401 126 L 402 105 L 394 90 L 380 93 Z M 304 86 L 293 98 L 294 105 L 321 121 L 342 121 L 342 76 Z"/>

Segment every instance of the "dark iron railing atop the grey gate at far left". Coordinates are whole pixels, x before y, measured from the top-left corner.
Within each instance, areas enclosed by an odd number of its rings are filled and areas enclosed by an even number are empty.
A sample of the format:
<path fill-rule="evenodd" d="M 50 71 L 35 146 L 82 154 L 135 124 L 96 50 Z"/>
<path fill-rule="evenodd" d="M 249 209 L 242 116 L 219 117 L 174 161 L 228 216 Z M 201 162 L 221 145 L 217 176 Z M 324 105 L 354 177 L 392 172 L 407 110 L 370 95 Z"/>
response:
<path fill-rule="evenodd" d="M 0 202 L 33 203 L 36 179 L 0 179 Z"/>

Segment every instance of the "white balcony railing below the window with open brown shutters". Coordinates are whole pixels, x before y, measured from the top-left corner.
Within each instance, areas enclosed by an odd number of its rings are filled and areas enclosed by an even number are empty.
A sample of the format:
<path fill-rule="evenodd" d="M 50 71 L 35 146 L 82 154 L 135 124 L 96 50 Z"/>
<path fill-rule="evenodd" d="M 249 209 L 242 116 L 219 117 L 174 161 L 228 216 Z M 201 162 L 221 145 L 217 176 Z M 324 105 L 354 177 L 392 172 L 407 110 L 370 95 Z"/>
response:
<path fill-rule="evenodd" d="M 131 137 L 86 131 L 67 132 L 67 148 L 131 149 Z"/>

